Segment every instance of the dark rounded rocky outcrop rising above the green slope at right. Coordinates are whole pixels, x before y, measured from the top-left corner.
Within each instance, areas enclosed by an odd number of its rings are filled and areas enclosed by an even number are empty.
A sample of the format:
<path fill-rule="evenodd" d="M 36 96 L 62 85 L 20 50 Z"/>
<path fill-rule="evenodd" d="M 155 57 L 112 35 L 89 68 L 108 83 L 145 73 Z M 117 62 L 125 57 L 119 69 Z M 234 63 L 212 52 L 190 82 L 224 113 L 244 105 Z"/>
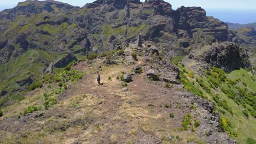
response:
<path fill-rule="evenodd" d="M 242 50 L 239 45 L 230 42 L 214 43 L 212 46 L 195 50 L 189 54 L 189 58 L 221 68 L 226 72 L 249 67 L 246 62 L 247 52 Z"/>

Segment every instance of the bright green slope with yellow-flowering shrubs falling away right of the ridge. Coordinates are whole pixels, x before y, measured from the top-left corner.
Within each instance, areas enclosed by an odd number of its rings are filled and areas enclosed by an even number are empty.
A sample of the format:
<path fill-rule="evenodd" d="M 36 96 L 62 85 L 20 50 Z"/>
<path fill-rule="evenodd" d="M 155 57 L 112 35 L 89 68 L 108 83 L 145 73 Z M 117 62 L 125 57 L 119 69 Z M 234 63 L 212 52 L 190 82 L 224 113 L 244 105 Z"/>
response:
<path fill-rule="evenodd" d="M 178 58 L 179 59 L 179 58 Z M 250 74 L 245 69 L 234 70 L 230 74 L 225 74 L 225 77 L 219 80 L 220 74 L 217 77 L 211 77 L 207 74 L 200 76 L 194 71 L 184 68 L 179 65 L 181 69 L 182 82 L 185 88 L 189 89 L 192 93 L 206 98 L 214 103 L 216 110 L 220 114 L 220 127 L 226 131 L 231 137 L 237 140 L 238 143 L 249 143 L 249 141 L 256 142 L 254 139 L 256 135 L 256 120 L 255 120 L 255 95 L 249 97 L 249 92 L 256 93 L 256 76 Z M 213 82 L 219 82 L 214 86 Z M 233 83 L 231 85 L 230 83 Z M 246 90 L 246 95 L 238 102 L 238 87 Z M 223 92 L 221 89 L 224 89 Z M 226 92 L 225 89 L 231 89 L 233 94 Z M 216 99 L 216 97 L 218 99 Z M 248 101 L 246 98 L 251 98 Z M 215 100 L 214 100 L 215 99 Z M 216 101 L 217 100 L 217 101 Z M 225 104 L 226 101 L 226 104 Z M 251 105 L 249 105 L 249 103 Z M 245 113 L 248 113 L 248 117 Z"/>

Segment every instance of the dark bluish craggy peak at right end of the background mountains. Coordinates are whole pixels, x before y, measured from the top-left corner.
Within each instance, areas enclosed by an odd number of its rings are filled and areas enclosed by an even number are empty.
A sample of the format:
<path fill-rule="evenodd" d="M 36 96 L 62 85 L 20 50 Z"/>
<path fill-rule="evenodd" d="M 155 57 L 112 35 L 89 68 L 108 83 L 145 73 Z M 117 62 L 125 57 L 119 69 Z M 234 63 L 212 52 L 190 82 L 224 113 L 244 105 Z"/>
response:
<path fill-rule="evenodd" d="M 174 12 L 174 19 L 178 29 L 184 29 L 190 37 L 197 31 L 213 35 L 219 41 L 228 40 L 228 26 L 226 23 L 207 17 L 201 7 L 181 7 Z"/>

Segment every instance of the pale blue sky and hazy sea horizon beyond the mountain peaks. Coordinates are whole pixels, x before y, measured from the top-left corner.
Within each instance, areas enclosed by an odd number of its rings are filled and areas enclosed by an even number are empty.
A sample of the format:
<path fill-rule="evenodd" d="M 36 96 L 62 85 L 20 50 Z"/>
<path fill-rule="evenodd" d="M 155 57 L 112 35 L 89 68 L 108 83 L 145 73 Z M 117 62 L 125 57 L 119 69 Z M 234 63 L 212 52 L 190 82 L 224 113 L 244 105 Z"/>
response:
<path fill-rule="evenodd" d="M 13 8 L 24 0 L 1 1 L 0 10 Z M 59 0 L 71 5 L 83 7 L 95 0 Z M 142 1 L 142 0 L 141 0 Z M 143 0 L 144 1 L 144 0 Z M 256 22 L 256 0 L 165 0 L 172 4 L 173 9 L 196 6 L 206 9 L 207 15 L 214 16 L 225 22 L 250 23 Z"/>

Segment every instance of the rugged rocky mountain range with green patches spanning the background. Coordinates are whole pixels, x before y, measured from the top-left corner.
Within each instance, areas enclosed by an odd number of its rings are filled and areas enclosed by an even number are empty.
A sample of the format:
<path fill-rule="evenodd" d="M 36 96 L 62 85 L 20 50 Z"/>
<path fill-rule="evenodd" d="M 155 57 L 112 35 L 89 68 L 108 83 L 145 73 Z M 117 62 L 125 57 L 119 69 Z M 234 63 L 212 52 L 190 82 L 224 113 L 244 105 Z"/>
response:
<path fill-rule="evenodd" d="M 25 42 L 21 42 L 21 47 L 25 46 L 26 49 L 47 50 L 52 47 L 58 52 L 74 52 L 72 48 L 80 45 L 83 55 L 89 51 L 100 53 L 113 50 L 135 41 L 139 33 L 144 40 L 155 43 L 168 43 L 171 40 L 190 44 L 193 34 L 199 31 L 218 41 L 228 39 L 225 23 L 207 17 L 202 8 L 181 7 L 172 10 L 171 4 L 160 0 L 145 3 L 137 0 L 98 0 L 80 9 L 55 1 L 26 1 L 13 9 L 2 11 L 0 17 L 3 23 L 0 29 L 1 64 L 22 53 L 19 46 L 14 45 L 20 43 L 19 37 L 22 35 L 26 36 L 21 40 Z M 109 40 L 113 35 L 114 39 Z M 81 44 L 84 39 L 90 45 Z M 5 43 L 7 40 L 8 43 Z M 7 44 L 16 47 L 11 50 L 10 57 L 7 56 Z M 186 47 L 171 45 L 169 49 Z"/>

